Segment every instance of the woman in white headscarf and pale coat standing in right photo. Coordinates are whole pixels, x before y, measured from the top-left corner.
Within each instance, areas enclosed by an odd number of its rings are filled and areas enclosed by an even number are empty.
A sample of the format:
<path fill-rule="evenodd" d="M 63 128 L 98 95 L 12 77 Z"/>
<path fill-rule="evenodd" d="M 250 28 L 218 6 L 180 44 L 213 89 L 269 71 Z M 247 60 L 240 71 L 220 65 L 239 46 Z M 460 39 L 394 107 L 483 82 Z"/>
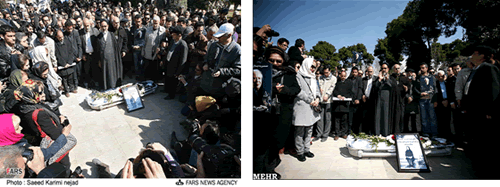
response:
<path fill-rule="evenodd" d="M 314 59 L 306 58 L 297 74 L 297 82 L 300 85 L 301 92 L 294 101 L 293 124 L 295 125 L 297 159 L 301 162 L 306 161 L 306 157 L 314 157 L 314 154 L 310 151 L 312 127 L 320 119 L 319 112 L 313 108 L 319 105 L 321 96 L 316 83 L 315 71 Z"/>

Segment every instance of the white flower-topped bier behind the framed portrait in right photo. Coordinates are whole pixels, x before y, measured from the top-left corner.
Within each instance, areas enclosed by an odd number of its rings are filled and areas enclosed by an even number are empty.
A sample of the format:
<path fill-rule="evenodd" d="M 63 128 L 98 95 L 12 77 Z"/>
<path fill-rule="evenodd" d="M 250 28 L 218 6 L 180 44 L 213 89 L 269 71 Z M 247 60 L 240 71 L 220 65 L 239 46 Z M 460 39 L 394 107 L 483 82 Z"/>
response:
<path fill-rule="evenodd" d="M 455 146 L 453 143 L 447 142 L 444 138 L 431 140 L 427 137 L 420 137 L 419 139 L 427 156 L 450 155 Z M 350 134 L 346 141 L 349 154 L 359 158 L 396 156 L 396 137 L 394 135 L 384 137 L 381 135 L 367 135 L 365 133 Z"/>

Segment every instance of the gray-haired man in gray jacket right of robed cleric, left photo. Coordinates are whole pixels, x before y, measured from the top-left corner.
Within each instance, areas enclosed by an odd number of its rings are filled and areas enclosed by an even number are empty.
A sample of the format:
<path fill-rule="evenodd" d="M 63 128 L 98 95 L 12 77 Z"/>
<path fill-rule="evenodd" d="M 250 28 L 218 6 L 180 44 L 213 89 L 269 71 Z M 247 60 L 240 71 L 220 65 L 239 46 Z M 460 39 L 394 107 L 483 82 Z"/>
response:
<path fill-rule="evenodd" d="M 146 28 L 146 38 L 141 53 L 144 61 L 144 69 L 146 70 L 146 78 L 154 78 L 156 81 L 161 79 L 161 74 L 159 73 L 160 64 L 157 60 L 160 47 L 167 47 L 165 39 L 166 29 L 160 26 L 160 17 L 154 16 L 153 25 Z"/>

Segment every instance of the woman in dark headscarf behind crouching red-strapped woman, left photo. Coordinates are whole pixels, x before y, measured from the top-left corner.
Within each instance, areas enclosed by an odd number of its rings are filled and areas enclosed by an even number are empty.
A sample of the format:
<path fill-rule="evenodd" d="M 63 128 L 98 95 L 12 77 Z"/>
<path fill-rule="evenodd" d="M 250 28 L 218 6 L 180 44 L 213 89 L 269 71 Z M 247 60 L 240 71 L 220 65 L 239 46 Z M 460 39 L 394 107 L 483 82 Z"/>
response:
<path fill-rule="evenodd" d="M 49 74 L 49 64 L 45 63 L 43 61 L 37 62 L 35 65 L 33 65 L 32 72 L 33 72 L 33 80 L 39 80 L 43 82 L 45 85 L 44 88 L 44 93 L 45 93 L 45 101 L 44 103 L 50 107 L 56 114 L 59 114 L 59 106 L 62 105 L 61 100 L 59 97 L 61 97 L 61 94 L 57 90 L 57 88 L 51 84 L 51 82 L 48 81 L 48 74 Z"/>

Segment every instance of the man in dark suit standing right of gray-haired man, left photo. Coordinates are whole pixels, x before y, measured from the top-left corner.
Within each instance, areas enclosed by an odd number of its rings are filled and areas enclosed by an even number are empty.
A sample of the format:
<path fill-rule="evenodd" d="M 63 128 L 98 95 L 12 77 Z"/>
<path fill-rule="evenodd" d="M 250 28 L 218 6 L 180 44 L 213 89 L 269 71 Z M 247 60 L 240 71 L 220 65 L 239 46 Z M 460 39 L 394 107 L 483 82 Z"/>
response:
<path fill-rule="evenodd" d="M 167 55 L 163 59 L 163 67 L 166 69 L 164 87 L 165 92 L 168 93 L 168 96 L 164 98 L 166 100 L 175 98 L 175 91 L 179 82 L 177 78 L 187 61 L 189 48 L 182 39 L 183 32 L 184 29 L 181 26 L 175 26 L 172 29 L 170 33 L 172 34 L 173 41 L 170 42 Z"/>

